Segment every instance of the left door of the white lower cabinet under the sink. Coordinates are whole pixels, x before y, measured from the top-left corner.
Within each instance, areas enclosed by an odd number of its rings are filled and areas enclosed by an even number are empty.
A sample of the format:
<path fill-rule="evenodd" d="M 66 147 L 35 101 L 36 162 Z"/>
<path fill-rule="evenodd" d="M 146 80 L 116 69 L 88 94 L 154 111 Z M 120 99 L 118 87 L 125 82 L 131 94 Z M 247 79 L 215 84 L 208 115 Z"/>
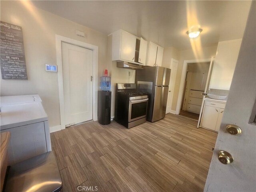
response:
<path fill-rule="evenodd" d="M 220 108 L 205 106 L 202 121 L 201 121 L 201 126 L 211 130 L 215 130 L 219 111 L 220 111 Z"/>

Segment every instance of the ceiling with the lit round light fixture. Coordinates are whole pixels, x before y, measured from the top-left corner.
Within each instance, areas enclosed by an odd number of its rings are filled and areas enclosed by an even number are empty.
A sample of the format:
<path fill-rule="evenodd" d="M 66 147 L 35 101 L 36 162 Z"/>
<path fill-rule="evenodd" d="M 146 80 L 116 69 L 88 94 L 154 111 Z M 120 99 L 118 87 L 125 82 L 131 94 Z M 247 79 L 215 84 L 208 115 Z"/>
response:
<path fill-rule="evenodd" d="M 251 1 L 33 1 L 36 7 L 110 34 L 118 29 L 163 47 L 190 49 L 186 31 L 200 25 L 202 46 L 242 38 Z"/>

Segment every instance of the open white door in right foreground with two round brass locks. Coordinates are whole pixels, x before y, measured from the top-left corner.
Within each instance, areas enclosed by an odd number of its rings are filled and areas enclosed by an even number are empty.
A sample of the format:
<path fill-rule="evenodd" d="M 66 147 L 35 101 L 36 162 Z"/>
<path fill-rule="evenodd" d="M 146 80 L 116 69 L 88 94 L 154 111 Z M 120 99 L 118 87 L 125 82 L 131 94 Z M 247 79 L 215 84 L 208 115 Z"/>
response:
<path fill-rule="evenodd" d="M 253 118 L 256 123 L 255 113 L 253 113 L 256 98 L 255 20 L 256 1 L 252 1 L 204 187 L 205 192 L 256 191 L 256 126 L 249 124 L 250 118 Z M 226 126 L 230 124 L 239 126 L 242 133 L 240 135 L 228 134 Z M 218 153 L 221 150 L 230 153 L 234 161 L 230 164 L 222 164 L 218 160 Z"/>

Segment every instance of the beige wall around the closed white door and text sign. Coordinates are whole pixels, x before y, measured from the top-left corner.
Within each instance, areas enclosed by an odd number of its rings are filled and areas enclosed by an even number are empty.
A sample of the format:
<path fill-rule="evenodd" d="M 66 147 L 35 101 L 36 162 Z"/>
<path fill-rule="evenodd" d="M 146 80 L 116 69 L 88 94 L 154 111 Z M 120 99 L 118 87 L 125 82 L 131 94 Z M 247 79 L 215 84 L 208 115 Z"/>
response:
<path fill-rule="evenodd" d="M 44 69 L 44 64 L 56 64 L 55 34 L 98 46 L 99 76 L 108 68 L 107 35 L 30 6 L 26 1 L 1 1 L 1 21 L 22 27 L 28 72 L 28 80 L 1 78 L 1 96 L 39 94 L 50 126 L 60 125 L 58 75 Z M 76 30 L 85 32 L 86 37 L 76 36 Z"/>

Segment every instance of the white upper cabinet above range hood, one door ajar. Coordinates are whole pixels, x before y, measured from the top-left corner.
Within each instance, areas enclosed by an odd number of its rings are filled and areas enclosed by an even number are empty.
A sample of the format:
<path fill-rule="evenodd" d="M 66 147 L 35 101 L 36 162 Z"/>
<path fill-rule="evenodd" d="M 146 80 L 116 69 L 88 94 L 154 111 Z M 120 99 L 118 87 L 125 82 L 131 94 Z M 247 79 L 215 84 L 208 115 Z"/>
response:
<path fill-rule="evenodd" d="M 112 61 L 145 65 L 148 42 L 123 30 L 112 34 Z"/>

